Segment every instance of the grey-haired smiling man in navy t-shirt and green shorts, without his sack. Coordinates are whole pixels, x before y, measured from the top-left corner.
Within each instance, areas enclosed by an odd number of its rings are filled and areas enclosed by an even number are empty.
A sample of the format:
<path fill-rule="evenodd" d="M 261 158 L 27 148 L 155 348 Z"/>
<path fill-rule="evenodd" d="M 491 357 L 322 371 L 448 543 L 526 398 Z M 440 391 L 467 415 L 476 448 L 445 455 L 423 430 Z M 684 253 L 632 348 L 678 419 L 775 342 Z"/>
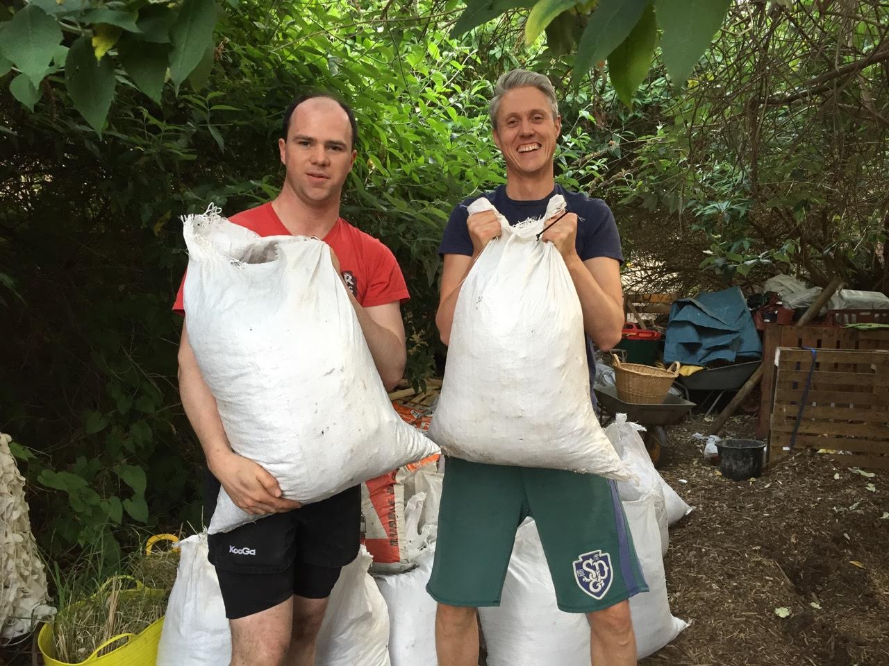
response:
<path fill-rule="evenodd" d="M 577 290 L 592 379 L 592 345 L 611 349 L 621 339 L 624 321 L 621 239 L 614 217 L 601 199 L 556 185 L 553 155 L 562 121 L 546 76 L 518 69 L 502 75 L 490 110 L 507 182 L 483 196 L 510 225 L 541 218 L 550 197 L 565 197 L 567 214 L 541 240 L 556 246 Z M 472 201 L 453 210 L 439 248 L 445 266 L 436 325 L 445 345 L 464 278 L 487 242 L 501 234 L 493 211 L 468 215 Z M 516 530 L 528 515 L 541 536 L 558 607 L 587 614 L 592 662 L 636 664 L 628 600 L 648 588 L 617 497 L 613 482 L 596 474 L 449 457 L 427 586 L 438 602 L 439 665 L 477 663 L 476 608 L 500 604 Z M 595 590 L 585 584 L 587 569 L 596 569 Z"/>

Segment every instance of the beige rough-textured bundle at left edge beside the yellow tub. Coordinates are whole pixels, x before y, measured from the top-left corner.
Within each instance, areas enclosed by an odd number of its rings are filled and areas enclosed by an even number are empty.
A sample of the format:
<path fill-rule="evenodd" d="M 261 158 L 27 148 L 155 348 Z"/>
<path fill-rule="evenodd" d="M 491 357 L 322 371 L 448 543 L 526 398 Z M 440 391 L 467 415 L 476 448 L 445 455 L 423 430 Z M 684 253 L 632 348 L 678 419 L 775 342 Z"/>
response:
<path fill-rule="evenodd" d="M 0 432 L 0 638 L 16 638 L 47 619 L 46 574 L 37 554 L 25 480 L 12 457 L 12 437 Z"/>

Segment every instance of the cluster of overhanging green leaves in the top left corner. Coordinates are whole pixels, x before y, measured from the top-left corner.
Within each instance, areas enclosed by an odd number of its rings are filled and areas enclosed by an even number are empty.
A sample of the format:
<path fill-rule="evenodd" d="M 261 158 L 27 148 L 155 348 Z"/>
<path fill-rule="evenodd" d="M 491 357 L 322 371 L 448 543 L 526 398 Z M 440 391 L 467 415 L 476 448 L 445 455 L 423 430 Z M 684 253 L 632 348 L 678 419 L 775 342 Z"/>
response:
<path fill-rule="evenodd" d="M 20 73 L 9 86 L 13 97 L 33 112 L 42 88 L 60 84 L 55 75 L 64 69 L 68 96 L 101 134 L 118 77 L 156 103 L 168 67 L 176 91 L 187 79 L 200 89 L 216 46 L 219 8 L 213 0 L 113 5 L 33 0 L 0 21 L 0 73 L 7 64 Z"/>

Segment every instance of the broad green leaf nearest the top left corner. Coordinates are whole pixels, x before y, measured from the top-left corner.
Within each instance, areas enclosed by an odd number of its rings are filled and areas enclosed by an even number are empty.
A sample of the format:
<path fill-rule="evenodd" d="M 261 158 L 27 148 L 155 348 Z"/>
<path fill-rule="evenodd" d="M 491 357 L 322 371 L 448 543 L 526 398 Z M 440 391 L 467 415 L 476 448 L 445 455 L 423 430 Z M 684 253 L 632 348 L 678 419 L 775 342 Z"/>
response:
<path fill-rule="evenodd" d="M 28 4 L 6 24 L 0 53 L 12 60 L 12 64 L 37 88 L 50 67 L 61 37 L 58 21 Z"/>

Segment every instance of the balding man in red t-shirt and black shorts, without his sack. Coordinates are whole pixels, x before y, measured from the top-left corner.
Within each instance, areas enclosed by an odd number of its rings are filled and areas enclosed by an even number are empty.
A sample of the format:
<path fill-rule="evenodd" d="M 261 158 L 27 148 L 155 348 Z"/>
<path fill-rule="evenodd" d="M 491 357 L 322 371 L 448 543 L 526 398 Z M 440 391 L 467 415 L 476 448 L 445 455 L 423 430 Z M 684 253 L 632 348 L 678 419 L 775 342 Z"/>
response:
<path fill-rule="evenodd" d="M 355 116 L 339 100 L 324 94 L 294 100 L 278 140 L 286 170 L 281 193 L 229 219 L 261 236 L 316 236 L 331 246 L 373 362 L 390 389 L 404 371 L 400 304 L 408 294 L 392 252 L 340 218 L 342 186 L 356 158 L 356 131 Z M 188 313 L 181 287 L 173 309 Z M 259 464 L 236 455 L 188 344 L 187 316 L 179 382 L 182 405 L 210 472 L 205 519 L 212 516 L 220 484 L 244 511 L 274 513 L 209 537 L 209 559 L 231 626 L 231 664 L 311 666 L 327 598 L 340 568 L 358 552 L 359 488 L 300 507 L 281 496 L 277 481 Z"/>

